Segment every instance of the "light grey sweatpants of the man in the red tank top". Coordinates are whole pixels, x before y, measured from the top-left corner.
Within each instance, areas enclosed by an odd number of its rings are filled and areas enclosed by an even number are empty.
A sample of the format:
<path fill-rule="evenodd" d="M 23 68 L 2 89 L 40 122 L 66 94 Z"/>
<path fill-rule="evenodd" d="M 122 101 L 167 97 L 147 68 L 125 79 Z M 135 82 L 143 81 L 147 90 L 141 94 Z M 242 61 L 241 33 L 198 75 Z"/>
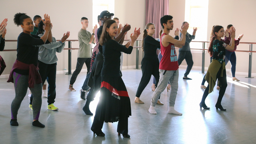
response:
<path fill-rule="evenodd" d="M 179 70 L 160 70 L 160 79 L 156 90 L 154 91 L 151 99 L 151 106 L 156 106 L 159 96 L 166 88 L 168 82 L 171 85 L 171 92 L 169 97 L 169 106 L 174 106 L 177 91 L 178 91 L 178 79 L 179 79 Z"/>

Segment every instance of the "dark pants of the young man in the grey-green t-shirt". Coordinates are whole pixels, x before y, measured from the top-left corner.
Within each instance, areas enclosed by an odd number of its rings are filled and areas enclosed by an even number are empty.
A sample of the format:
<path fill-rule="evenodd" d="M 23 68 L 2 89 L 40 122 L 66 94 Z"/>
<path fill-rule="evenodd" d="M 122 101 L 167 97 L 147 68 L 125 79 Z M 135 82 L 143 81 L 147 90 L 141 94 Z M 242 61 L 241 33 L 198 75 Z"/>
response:
<path fill-rule="evenodd" d="M 75 83 L 76 78 L 78 74 L 81 72 L 84 63 L 86 64 L 86 67 L 87 67 L 87 74 L 90 72 L 90 62 L 91 62 L 91 58 L 77 58 L 76 70 L 73 72 L 70 79 L 71 85 Z"/>

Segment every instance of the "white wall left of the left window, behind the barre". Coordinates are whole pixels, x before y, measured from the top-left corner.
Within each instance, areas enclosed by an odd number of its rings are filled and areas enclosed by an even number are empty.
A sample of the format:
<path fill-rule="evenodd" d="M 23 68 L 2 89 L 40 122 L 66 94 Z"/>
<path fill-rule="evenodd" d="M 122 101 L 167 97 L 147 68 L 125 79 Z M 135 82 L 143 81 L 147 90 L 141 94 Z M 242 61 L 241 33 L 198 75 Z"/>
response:
<path fill-rule="evenodd" d="M 2 0 L 1 11 L 0 20 L 8 18 L 6 40 L 17 40 L 18 35 L 22 32 L 22 28 L 17 27 L 13 22 L 14 14 L 17 12 L 27 13 L 32 19 L 35 15 L 43 17 L 46 13 L 50 15 L 53 24 L 52 34 L 57 40 L 60 40 L 67 31 L 70 31 L 69 40 L 77 40 L 78 31 L 81 28 L 81 18 L 85 16 L 92 20 L 92 0 L 66 0 L 65 2 L 63 0 Z M 88 30 L 92 31 L 92 23 L 89 23 Z M 78 48 L 78 46 L 78 42 L 73 43 L 73 48 Z M 66 42 L 67 47 L 68 42 Z M 16 42 L 6 42 L 5 50 L 16 48 Z M 76 67 L 77 52 L 78 50 L 72 51 L 72 69 Z M 3 75 L 10 74 L 12 65 L 16 60 L 16 54 L 16 51 L 0 52 L 7 65 Z M 68 69 L 68 50 L 58 53 L 57 56 L 57 70 Z"/>

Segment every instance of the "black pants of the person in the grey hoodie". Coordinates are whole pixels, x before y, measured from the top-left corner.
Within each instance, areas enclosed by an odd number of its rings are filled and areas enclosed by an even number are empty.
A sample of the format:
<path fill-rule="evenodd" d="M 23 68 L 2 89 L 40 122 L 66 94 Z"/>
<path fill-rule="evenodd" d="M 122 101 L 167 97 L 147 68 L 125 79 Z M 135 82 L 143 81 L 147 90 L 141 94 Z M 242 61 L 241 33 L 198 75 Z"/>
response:
<path fill-rule="evenodd" d="M 38 61 L 39 73 L 42 78 L 42 85 L 44 85 L 45 80 L 48 82 L 48 104 L 53 104 L 56 98 L 56 67 L 57 63 L 46 64 L 44 62 Z M 32 104 L 33 95 L 30 97 L 30 104 Z"/>

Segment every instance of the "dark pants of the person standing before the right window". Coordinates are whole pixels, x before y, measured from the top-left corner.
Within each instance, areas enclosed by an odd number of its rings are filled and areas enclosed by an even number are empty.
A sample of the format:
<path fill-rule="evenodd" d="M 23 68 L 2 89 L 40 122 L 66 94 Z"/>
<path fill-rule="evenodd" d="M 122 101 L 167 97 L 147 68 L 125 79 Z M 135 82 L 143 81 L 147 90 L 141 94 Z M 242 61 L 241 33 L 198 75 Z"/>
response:
<path fill-rule="evenodd" d="M 184 59 L 186 60 L 187 65 L 188 65 L 187 69 L 186 69 L 186 72 L 184 74 L 184 77 L 188 77 L 188 74 L 189 74 L 189 72 L 192 69 L 192 66 L 194 64 L 191 51 L 183 51 L 183 50 L 179 51 L 179 56 L 178 56 L 179 66 L 180 66 L 180 64 L 182 63 L 182 61 Z"/>

